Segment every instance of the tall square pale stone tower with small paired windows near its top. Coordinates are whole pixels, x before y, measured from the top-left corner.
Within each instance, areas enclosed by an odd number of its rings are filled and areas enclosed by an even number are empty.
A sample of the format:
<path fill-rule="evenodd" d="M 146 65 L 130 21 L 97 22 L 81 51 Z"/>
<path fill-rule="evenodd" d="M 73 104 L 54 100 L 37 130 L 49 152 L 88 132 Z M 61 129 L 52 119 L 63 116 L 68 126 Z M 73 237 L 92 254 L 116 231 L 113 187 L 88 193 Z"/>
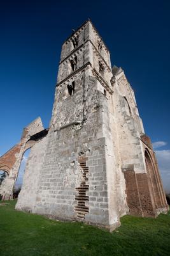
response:
<path fill-rule="evenodd" d="M 89 38 L 91 41 L 87 42 Z M 125 186 L 125 182 L 115 156 L 117 135 L 113 132 L 113 102 L 109 96 L 112 76 L 109 52 L 101 42 L 103 57 L 107 57 L 104 60 L 96 49 L 98 38 L 87 23 L 79 34 L 80 45 L 76 52 L 70 48 L 71 39 L 62 47 L 65 52 L 61 54 L 35 211 L 57 218 L 78 219 L 85 209 L 85 221 L 114 226 L 119 224 L 127 205 L 124 188 L 118 189 L 122 184 Z M 71 59 L 75 56 L 76 70 L 71 70 Z M 99 61 L 104 68 L 103 74 L 99 70 Z M 73 82 L 74 90 L 70 93 L 69 86 Z M 85 159 L 84 167 L 79 163 L 80 157 Z M 88 173 L 82 175 L 85 170 L 81 168 L 87 168 Z M 83 179 L 87 179 L 85 204 L 78 200 L 78 196 L 83 195 L 78 190 Z M 82 212 L 76 210 L 78 207 Z"/>

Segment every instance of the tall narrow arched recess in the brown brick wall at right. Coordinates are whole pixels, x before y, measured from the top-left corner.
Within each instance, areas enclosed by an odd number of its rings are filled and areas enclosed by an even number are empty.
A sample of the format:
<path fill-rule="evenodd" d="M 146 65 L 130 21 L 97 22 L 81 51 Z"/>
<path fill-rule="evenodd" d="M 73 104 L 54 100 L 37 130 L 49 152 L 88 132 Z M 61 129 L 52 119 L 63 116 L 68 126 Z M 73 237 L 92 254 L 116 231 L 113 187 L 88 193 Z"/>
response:
<path fill-rule="evenodd" d="M 153 200 L 154 200 L 155 206 L 158 208 L 158 207 L 161 207 L 158 181 L 157 181 L 157 177 L 155 175 L 155 169 L 154 169 L 154 165 L 153 165 L 153 161 L 152 161 L 152 156 L 150 155 L 148 150 L 145 150 L 145 163 L 146 163 L 146 171 L 150 178 L 150 187 L 152 189 Z"/>

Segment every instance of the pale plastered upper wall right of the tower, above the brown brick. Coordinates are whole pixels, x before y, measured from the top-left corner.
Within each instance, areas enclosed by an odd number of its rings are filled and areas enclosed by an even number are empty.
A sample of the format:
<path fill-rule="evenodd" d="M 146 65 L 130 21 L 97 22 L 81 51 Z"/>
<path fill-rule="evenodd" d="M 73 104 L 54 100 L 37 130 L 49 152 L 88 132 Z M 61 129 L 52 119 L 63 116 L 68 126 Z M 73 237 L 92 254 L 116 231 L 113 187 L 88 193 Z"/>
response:
<path fill-rule="evenodd" d="M 140 140 L 140 135 L 144 131 L 136 100 L 124 72 L 115 77 L 113 101 L 115 102 L 122 168 L 124 170 L 133 168 L 135 172 L 145 172 L 145 156 Z"/>

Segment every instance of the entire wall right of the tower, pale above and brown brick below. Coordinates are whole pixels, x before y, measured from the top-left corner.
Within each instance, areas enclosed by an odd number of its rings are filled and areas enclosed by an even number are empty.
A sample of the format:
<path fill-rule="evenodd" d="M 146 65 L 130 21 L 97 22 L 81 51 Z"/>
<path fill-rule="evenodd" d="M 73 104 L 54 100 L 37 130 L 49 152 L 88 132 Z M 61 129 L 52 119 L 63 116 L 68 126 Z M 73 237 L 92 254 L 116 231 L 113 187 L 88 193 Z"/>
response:
<path fill-rule="evenodd" d="M 138 216 L 157 216 L 159 212 L 167 211 L 164 190 L 158 169 L 154 166 L 152 143 L 144 135 L 134 93 L 121 70 L 115 74 L 113 90 L 129 213 Z M 146 148 L 150 151 L 150 157 L 147 159 Z"/>

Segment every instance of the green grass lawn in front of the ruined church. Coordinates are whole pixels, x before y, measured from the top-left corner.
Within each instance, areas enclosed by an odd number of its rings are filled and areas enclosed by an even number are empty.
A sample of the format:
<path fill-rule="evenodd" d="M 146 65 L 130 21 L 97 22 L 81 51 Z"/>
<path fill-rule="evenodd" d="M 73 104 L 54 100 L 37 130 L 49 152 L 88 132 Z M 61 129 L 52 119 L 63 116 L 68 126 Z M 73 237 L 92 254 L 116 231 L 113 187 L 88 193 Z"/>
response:
<path fill-rule="evenodd" d="M 157 219 L 124 216 L 110 233 L 0 206 L 0 255 L 170 255 L 170 212 Z"/>

